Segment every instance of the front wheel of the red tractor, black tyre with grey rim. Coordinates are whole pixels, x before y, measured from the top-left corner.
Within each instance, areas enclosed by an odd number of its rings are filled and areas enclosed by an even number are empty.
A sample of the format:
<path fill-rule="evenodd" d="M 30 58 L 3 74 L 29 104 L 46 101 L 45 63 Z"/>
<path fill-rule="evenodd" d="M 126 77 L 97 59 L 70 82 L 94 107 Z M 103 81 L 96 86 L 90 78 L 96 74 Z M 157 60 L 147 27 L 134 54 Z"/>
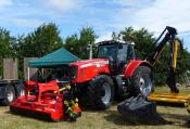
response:
<path fill-rule="evenodd" d="M 109 108 L 114 100 L 114 82 L 107 75 L 100 75 L 90 81 L 87 91 L 93 108 Z"/>

